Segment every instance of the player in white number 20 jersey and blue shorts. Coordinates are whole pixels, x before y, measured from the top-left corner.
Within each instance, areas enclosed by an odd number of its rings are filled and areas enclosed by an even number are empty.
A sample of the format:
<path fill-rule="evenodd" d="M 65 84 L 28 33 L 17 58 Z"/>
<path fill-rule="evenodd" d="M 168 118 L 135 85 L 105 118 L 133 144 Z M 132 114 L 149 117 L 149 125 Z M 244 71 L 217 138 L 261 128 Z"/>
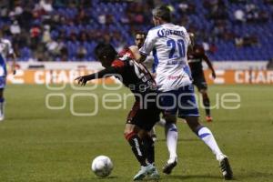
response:
<path fill-rule="evenodd" d="M 143 62 L 153 52 L 157 64 L 156 82 L 160 94 L 160 106 L 165 109 L 167 148 L 170 157 L 163 172 L 170 174 L 177 166 L 177 111 L 187 125 L 202 139 L 219 161 L 225 179 L 233 177 L 227 157 L 217 146 L 217 142 L 206 127 L 198 121 L 198 109 L 194 96 L 194 86 L 187 65 L 187 46 L 190 38 L 183 26 L 171 24 L 171 13 L 167 5 L 157 6 L 153 10 L 156 27 L 150 29 L 144 45 L 140 48 L 138 59 Z"/>

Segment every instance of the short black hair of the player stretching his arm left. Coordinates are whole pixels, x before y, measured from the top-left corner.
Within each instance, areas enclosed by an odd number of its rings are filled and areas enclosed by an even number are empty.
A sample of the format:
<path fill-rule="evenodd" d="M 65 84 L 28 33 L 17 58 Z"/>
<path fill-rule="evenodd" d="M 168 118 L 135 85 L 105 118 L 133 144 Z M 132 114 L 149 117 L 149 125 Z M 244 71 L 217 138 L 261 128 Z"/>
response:
<path fill-rule="evenodd" d="M 94 50 L 96 58 L 106 56 L 109 59 L 114 60 L 117 55 L 115 48 L 110 44 L 99 43 Z"/>

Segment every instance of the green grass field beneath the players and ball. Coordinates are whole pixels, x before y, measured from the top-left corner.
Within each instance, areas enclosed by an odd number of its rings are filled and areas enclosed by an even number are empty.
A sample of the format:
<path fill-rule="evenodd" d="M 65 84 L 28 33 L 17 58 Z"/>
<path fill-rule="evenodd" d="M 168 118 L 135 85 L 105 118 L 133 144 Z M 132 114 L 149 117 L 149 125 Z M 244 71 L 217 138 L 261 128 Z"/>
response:
<path fill-rule="evenodd" d="M 7 86 L 5 121 L 0 123 L 0 182 L 128 182 L 139 167 L 123 136 L 126 109 L 106 110 L 100 107 L 96 116 L 73 116 L 70 98 L 76 93 L 93 93 L 100 98 L 108 91 L 49 91 L 45 86 Z M 120 93 L 128 93 L 122 88 Z M 210 86 L 212 105 L 216 93 L 238 93 L 237 110 L 215 109 L 213 131 L 219 147 L 230 158 L 235 181 L 273 181 L 273 86 Z M 61 110 L 45 107 L 49 93 L 64 93 L 66 106 Z M 114 93 L 114 92 L 113 92 Z M 61 106 L 62 99 L 49 100 Z M 77 97 L 76 112 L 93 109 L 88 97 Z M 114 106 L 114 104 L 113 104 Z M 204 120 L 203 110 L 201 120 Z M 160 172 L 160 181 L 222 181 L 217 161 L 210 150 L 183 122 L 179 122 L 179 164 L 170 176 Z M 163 128 L 157 126 L 157 168 L 167 160 Z M 110 177 L 99 178 L 90 171 L 92 159 L 111 157 L 114 170 Z"/>

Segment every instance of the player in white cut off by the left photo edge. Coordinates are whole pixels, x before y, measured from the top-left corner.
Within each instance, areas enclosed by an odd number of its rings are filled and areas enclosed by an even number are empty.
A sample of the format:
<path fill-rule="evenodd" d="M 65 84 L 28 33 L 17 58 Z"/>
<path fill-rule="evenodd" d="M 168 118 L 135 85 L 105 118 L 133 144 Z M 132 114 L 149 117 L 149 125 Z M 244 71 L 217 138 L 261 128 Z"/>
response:
<path fill-rule="evenodd" d="M 6 71 L 6 58 L 12 57 L 15 60 L 15 53 L 11 42 L 3 37 L 2 31 L 0 30 L 0 121 L 5 118 L 4 115 L 4 89 L 5 89 L 5 78 L 7 75 Z M 13 73 L 15 74 L 15 62 L 13 64 Z"/>

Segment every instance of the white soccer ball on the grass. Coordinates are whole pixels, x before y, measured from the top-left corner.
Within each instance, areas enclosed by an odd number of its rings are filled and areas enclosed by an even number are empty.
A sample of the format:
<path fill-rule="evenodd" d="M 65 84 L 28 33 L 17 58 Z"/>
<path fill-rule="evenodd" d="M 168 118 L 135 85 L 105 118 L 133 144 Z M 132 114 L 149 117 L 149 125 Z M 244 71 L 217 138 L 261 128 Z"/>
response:
<path fill-rule="evenodd" d="M 91 170 L 98 177 L 108 177 L 113 170 L 113 163 L 109 157 L 106 156 L 98 156 L 94 158 Z"/>

